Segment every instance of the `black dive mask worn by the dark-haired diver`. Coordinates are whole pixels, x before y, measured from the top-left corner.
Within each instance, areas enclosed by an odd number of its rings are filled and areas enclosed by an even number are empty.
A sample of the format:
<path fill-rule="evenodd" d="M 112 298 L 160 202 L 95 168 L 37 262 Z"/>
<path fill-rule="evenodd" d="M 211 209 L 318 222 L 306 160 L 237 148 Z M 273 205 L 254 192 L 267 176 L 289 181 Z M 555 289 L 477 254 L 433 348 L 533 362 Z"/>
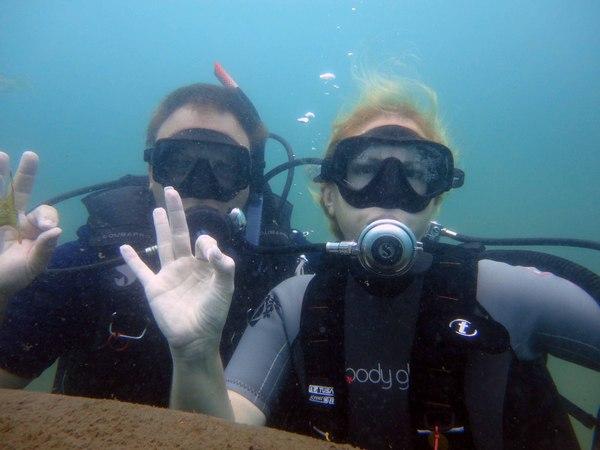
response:
<path fill-rule="evenodd" d="M 227 202 L 250 183 L 249 150 L 215 130 L 193 128 L 146 149 L 154 179 L 182 197 Z"/>

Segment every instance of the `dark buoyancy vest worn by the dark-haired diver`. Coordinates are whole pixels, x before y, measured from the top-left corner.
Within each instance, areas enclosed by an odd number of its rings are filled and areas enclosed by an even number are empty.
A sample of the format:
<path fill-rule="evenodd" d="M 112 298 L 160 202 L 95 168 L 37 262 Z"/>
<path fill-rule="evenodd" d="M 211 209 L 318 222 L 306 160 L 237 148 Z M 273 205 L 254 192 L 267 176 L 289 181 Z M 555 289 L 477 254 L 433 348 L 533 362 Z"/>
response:
<path fill-rule="evenodd" d="M 120 186 L 95 192 L 82 201 L 88 220 L 78 231 L 80 248 L 76 253 L 85 255 L 85 264 L 117 256 L 118 246 L 124 243 L 135 248 L 155 243 L 154 199 L 147 186 Z M 279 198 L 266 193 L 263 245 L 290 245 L 303 239 L 302 233 L 290 228 L 291 210 L 289 203 L 281 208 Z M 276 216 L 274 211 L 283 213 Z M 221 356 L 228 361 L 245 329 L 247 311 L 271 287 L 293 275 L 296 260 L 286 255 L 252 254 L 237 241 L 226 242 L 223 248 L 236 260 L 236 292 L 221 342 Z M 157 257 L 147 258 L 146 262 L 153 270 L 160 268 Z M 76 303 L 86 316 L 80 320 L 85 325 L 77 348 L 59 361 L 55 392 L 167 406 L 171 372 L 168 346 L 154 322 L 143 289 L 132 284 L 130 275 L 133 276 L 125 263 L 119 267 L 54 275 L 63 276 L 60 282 L 70 284 L 75 291 L 73 295 L 78 297 Z M 138 372 L 146 367 L 140 358 L 154 359 L 154 365 L 165 367 L 144 374 L 144 380 L 132 382 L 130 378 L 142 376 Z M 123 373 L 119 372 L 121 369 Z M 151 377 L 156 378 L 152 387 L 155 392 L 142 392 Z M 146 390 L 151 386 L 147 384 Z M 119 393 L 121 388 L 123 392 Z"/>

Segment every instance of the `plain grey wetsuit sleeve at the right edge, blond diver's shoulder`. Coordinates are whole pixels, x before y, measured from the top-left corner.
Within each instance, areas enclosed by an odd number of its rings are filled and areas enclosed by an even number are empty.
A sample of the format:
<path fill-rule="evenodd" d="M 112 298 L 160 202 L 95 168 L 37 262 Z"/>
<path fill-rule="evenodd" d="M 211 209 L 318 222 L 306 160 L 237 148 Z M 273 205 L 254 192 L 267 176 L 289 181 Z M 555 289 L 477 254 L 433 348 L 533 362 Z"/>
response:
<path fill-rule="evenodd" d="M 600 370 L 600 305 L 579 286 L 532 267 L 482 260 L 477 300 L 506 327 L 520 360 L 550 353 Z"/>

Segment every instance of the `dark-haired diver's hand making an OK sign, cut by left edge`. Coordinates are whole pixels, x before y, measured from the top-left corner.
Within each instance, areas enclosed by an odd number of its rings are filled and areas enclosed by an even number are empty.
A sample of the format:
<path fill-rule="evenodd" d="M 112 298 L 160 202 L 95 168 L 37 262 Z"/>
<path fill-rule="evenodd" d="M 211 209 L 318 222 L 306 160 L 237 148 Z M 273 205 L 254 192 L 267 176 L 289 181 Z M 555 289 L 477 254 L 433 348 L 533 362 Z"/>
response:
<path fill-rule="evenodd" d="M 11 185 L 10 158 L 0 151 L 0 303 L 46 268 L 62 232 L 53 207 L 42 205 L 24 213 L 38 160 L 34 152 L 24 152 Z"/>

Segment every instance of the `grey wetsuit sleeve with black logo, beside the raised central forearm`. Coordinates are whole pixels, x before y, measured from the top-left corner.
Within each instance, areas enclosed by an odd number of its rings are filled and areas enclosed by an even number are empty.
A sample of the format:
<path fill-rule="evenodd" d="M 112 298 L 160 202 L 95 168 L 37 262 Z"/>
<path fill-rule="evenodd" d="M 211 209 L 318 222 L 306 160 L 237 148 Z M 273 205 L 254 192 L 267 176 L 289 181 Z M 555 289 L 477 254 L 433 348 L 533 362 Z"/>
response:
<path fill-rule="evenodd" d="M 225 369 L 227 389 L 250 400 L 266 417 L 291 375 L 304 291 L 312 275 L 290 278 L 256 308 Z"/>

